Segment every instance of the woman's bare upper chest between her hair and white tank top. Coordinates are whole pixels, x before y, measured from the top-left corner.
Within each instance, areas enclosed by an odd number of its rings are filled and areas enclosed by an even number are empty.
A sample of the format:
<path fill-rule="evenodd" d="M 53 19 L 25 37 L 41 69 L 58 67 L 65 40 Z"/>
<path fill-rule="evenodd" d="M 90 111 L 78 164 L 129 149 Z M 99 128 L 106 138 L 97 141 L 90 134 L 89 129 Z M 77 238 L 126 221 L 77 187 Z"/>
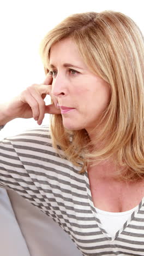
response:
<path fill-rule="evenodd" d="M 139 205 L 144 196 L 144 182 L 118 182 L 88 175 L 94 206 L 107 212 L 125 212 Z"/>

